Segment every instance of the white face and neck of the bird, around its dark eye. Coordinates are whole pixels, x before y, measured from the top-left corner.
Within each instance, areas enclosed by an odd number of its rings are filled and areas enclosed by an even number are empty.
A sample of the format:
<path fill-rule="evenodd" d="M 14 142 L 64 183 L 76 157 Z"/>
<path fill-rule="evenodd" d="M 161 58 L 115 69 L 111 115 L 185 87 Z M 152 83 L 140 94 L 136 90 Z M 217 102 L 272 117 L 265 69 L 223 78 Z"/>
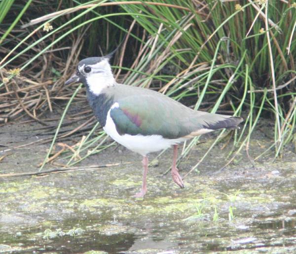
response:
<path fill-rule="evenodd" d="M 90 92 L 95 95 L 114 85 L 115 80 L 108 59 L 97 64 L 82 64 L 78 66 L 78 71 L 85 77 Z"/>

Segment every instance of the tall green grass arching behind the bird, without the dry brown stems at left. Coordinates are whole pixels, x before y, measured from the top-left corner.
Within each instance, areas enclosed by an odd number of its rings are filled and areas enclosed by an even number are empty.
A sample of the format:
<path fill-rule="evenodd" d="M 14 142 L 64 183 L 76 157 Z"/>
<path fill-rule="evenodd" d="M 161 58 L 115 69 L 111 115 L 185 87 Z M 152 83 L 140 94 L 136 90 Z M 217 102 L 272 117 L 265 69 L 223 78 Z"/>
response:
<path fill-rule="evenodd" d="M 14 43 L 0 61 L 0 71 L 18 63 L 38 47 L 39 51 L 30 60 L 18 64 L 25 72 L 46 51 L 67 45 L 65 41 L 77 38 L 86 29 L 88 36 L 80 37 L 80 42 L 84 41 L 80 52 L 85 57 L 90 56 L 89 52 L 110 52 L 127 33 L 113 66 L 121 82 L 158 90 L 196 110 L 244 117 L 241 130 L 233 135 L 226 165 L 244 149 L 251 163 L 270 151 L 277 158 L 292 141 L 296 125 L 295 3 L 283 0 L 172 0 L 169 6 L 165 0 L 67 3 L 69 5 L 64 3 L 59 11 L 51 11 L 49 16 L 40 17 L 25 28 L 18 43 Z M 24 5 L 16 20 L 30 11 L 30 4 L 28 1 Z M 13 1 L 3 8 L 0 21 L 12 6 Z M 66 11 L 63 12 L 63 8 Z M 45 23 L 53 24 L 54 29 L 31 41 Z M 1 34 L 3 43 L 13 40 L 8 35 L 15 25 L 11 23 L 8 32 Z M 30 45 L 24 47 L 28 42 Z M 65 53 L 59 52 L 65 63 L 68 59 L 63 79 L 74 71 L 78 58 L 69 50 Z M 1 83 L 0 88 L 3 86 Z M 273 121 L 273 144 L 263 154 L 251 158 L 252 133 L 261 118 Z M 99 133 L 98 137 L 92 138 L 95 132 Z M 198 167 L 224 134 L 222 130 L 191 170 Z M 84 159 L 109 146 L 106 138 L 96 125 L 74 150 L 84 154 L 81 158 Z M 179 161 L 197 142 L 198 138 L 194 138 L 185 143 Z M 68 165 L 81 160 L 75 160 L 75 154 L 65 156 L 69 159 Z"/>

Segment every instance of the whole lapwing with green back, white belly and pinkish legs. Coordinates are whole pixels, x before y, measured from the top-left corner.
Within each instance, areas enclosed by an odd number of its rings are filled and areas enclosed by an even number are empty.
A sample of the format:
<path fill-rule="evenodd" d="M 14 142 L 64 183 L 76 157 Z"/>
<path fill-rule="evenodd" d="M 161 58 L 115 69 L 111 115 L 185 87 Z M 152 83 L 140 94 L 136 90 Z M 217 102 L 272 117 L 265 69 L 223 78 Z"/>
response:
<path fill-rule="evenodd" d="M 110 59 L 109 54 L 81 60 L 65 85 L 83 83 L 89 105 L 106 133 L 143 156 L 142 188 L 135 197 L 147 193 L 148 154 L 172 146 L 172 178 L 184 188 L 177 168 L 178 144 L 217 129 L 239 128 L 243 119 L 193 110 L 151 89 L 119 84 Z"/>

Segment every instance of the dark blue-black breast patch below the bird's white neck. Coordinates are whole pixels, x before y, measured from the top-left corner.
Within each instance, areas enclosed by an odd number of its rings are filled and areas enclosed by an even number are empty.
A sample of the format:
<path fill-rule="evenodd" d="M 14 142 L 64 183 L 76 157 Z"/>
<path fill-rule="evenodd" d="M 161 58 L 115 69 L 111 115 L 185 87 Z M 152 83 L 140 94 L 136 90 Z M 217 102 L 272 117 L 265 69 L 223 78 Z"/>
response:
<path fill-rule="evenodd" d="M 94 95 L 90 93 L 88 89 L 86 90 L 86 95 L 94 115 L 98 119 L 101 126 L 105 127 L 108 111 L 114 103 L 113 96 L 110 97 L 106 94 Z"/>

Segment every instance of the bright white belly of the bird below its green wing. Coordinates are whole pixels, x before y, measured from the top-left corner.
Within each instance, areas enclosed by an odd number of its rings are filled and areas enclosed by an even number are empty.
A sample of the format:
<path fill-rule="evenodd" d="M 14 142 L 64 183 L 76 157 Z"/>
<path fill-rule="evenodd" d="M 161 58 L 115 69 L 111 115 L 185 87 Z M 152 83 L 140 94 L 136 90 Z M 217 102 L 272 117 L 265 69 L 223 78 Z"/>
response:
<path fill-rule="evenodd" d="M 167 149 L 172 145 L 185 141 L 184 138 L 165 139 L 161 135 L 120 135 L 116 130 L 110 112 L 108 112 L 106 125 L 103 128 L 116 142 L 143 156 L 146 156 L 148 153 Z"/>

